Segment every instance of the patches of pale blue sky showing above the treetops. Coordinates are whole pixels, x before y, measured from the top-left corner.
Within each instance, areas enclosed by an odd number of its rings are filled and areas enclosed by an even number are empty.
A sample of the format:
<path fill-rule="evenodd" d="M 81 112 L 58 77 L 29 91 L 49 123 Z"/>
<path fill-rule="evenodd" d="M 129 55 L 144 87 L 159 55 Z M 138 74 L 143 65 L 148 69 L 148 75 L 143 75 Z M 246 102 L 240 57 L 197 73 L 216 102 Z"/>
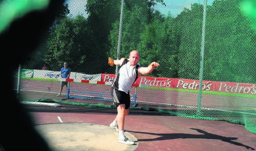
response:
<path fill-rule="evenodd" d="M 211 5 L 213 1 L 214 0 L 207 0 L 207 5 Z M 87 17 L 86 12 L 84 11 L 86 0 L 66 0 L 64 4 L 66 3 L 68 3 L 70 9 L 70 17 L 75 17 L 78 14 Z M 164 0 L 164 3 L 166 6 L 157 4 L 155 9 L 165 15 L 170 12 L 174 17 L 176 17 L 185 7 L 190 8 L 191 4 L 194 3 L 204 4 L 204 0 Z"/>

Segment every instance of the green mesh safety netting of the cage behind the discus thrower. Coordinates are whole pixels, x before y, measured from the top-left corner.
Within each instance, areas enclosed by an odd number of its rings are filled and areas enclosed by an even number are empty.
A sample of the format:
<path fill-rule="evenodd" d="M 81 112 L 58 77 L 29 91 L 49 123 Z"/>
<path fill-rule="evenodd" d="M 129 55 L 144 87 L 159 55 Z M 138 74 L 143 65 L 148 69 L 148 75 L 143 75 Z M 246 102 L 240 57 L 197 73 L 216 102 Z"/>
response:
<path fill-rule="evenodd" d="M 195 3 L 189 0 L 164 3 L 125 0 L 118 56 L 127 58 L 132 49 L 137 49 L 140 65 L 160 63 L 161 67 L 146 75 L 148 77 L 218 81 L 223 85 L 236 83 L 233 89 L 226 87 L 227 92 L 202 90 L 202 94 L 195 85 L 189 90 L 176 86 L 167 88 L 164 83 L 159 87 L 140 85 L 130 91 L 131 95 L 137 95 L 137 104 L 131 104 L 131 108 L 158 110 L 186 118 L 225 120 L 243 124 L 248 131 L 256 133 L 256 14 L 246 14 L 244 2 L 208 0 L 203 28 L 203 0 Z M 66 1 L 48 37 L 21 65 L 21 101 L 50 98 L 55 102 L 112 108 L 111 101 L 61 100 L 65 98 L 66 87 L 62 97 L 56 94 L 60 90 L 58 76 L 64 62 L 68 62 L 71 74 L 77 76 L 78 73 L 116 74 L 115 66 L 110 67 L 107 58 L 117 57 L 121 6 L 121 0 Z M 42 72 L 44 64 L 47 72 Z M 40 72 L 42 77 L 33 76 Z M 84 75 L 80 78 L 90 80 L 90 76 Z M 14 88 L 17 89 L 18 74 L 15 76 Z M 250 86 L 243 87 L 241 83 Z M 74 96 L 87 97 L 89 94 L 72 90 L 93 92 L 89 97 L 99 98 L 97 93 L 110 93 L 110 85 L 78 81 L 70 82 L 70 90 Z"/>

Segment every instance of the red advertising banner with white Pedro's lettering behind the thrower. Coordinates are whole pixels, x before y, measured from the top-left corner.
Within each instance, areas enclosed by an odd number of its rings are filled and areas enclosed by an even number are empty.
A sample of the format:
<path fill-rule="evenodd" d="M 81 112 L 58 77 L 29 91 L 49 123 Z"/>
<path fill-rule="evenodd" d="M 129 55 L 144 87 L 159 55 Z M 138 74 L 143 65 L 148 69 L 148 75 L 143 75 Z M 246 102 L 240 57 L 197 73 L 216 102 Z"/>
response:
<path fill-rule="evenodd" d="M 104 82 L 113 82 L 114 74 L 102 74 L 101 80 Z M 199 80 L 181 79 L 181 78 L 156 78 L 140 76 L 135 84 L 140 87 L 166 87 L 166 88 L 182 88 L 188 90 L 199 90 Z M 237 83 L 237 82 L 219 82 L 206 81 L 202 82 L 202 90 L 231 92 L 241 94 L 256 94 L 256 84 Z"/>

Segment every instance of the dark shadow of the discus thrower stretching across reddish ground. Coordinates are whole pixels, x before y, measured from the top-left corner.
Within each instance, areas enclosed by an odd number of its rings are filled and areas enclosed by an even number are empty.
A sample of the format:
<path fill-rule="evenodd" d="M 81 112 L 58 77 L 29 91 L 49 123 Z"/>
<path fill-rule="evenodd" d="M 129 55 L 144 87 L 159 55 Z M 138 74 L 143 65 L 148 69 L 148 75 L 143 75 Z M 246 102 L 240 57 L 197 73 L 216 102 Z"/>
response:
<path fill-rule="evenodd" d="M 128 131 L 128 132 L 133 132 L 133 133 L 142 133 L 142 134 L 148 134 L 148 135 L 159 135 L 160 137 L 158 138 L 152 138 L 152 139 L 138 139 L 138 141 L 159 141 L 159 140 L 167 140 L 167 139 L 186 139 L 186 138 L 198 138 L 198 139 L 218 139 L 221 141 L 225 141 L 227 143 L 231 143 L 234 145 L 238 146 L 243 146 L 246 147 L 247 149 L 255 150 L 254 148 L 250 146 L 246 146 L 242 143 L 238 143 L 232 140 L 236 140 L 238 138 L 236 137 L 224 137 L 212 133 L 208 133 L 206 131 L 203 131 L 201 129 L 196 129 L 196 128 L 190 128 L 198 131 L 199 133 L 203 133 L 201 135 L 196 135 L 196 134 L 186 134 L 186 133 L 148 133 L 148 132 L 140 132 L 140 131 Z"/>

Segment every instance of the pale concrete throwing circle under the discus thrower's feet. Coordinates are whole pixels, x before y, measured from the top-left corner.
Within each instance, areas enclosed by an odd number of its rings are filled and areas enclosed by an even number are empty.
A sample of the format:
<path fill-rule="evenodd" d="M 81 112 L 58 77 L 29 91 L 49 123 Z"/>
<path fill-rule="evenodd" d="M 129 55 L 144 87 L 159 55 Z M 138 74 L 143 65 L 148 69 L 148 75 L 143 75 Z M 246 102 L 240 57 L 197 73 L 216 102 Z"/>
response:
<path fill-rule="evenodd" d="M 134 151 L 138 139 L 124 132 L 134 145 L 118 143 L 118 132 L 110 126 L 97 124 L 40 124 L 36 130 L 53 151 Z"/>

